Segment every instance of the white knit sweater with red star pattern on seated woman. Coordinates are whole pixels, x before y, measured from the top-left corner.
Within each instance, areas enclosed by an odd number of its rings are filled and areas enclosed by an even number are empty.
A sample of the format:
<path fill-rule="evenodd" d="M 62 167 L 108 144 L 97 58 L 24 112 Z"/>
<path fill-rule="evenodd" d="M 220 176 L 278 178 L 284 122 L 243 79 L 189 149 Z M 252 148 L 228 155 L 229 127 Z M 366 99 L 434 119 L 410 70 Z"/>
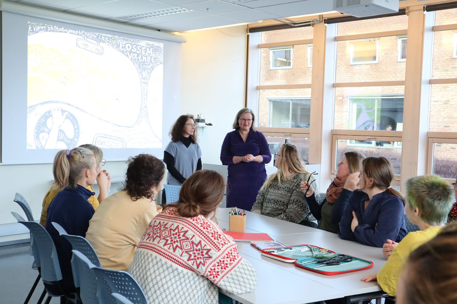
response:
<path fill-rule="evenodd" d="M 151 221 L 128 272 L 149 304 L 217 304 L 218 287 L 243 294 L 257 283 L 233 238 L 204 216 L 178 216 L 175 207 Z"/>

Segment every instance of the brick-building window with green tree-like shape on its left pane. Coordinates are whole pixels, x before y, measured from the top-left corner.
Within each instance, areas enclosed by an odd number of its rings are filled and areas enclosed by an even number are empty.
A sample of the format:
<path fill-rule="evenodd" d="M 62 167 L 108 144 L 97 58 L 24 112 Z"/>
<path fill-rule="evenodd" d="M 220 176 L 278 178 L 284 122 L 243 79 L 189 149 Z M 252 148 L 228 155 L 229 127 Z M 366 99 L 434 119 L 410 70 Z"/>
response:
<path fill-rule="evenodd" d="M 403 97 L 349 98 L 351 130 L 403 130 Z"/>

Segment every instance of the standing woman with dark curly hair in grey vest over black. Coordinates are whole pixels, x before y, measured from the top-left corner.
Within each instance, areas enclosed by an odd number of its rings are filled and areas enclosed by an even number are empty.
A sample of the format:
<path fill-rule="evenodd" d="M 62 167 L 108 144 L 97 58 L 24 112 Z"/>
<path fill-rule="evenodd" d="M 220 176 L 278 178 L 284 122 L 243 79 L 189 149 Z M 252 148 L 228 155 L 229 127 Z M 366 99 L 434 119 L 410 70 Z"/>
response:
<path fill-rule="evenodd" d="M 202 150 L 197 144 L 197 129 L 193 115 L 181 115 L 171 127 L 170 143 L 164 151 L 164 163 L 167 166 L 167 184 L 182 183 L 197 170 L 202 170 Z M 165 191 L 162 204 L 166 202 Z"/>

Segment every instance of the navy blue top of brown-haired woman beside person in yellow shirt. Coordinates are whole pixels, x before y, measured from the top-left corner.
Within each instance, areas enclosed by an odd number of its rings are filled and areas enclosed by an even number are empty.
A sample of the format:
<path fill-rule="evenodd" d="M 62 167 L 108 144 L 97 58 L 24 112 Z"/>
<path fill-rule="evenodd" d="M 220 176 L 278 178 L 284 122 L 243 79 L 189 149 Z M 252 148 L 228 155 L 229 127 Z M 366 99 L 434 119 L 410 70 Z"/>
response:
<path fill-rule="evenodd" d="M 365 192 L 354 191 L 340 221 L 340 238 L 373 247 L 383 247 L 387 239 L 400 242 L 407 234 L 401 199 L 384 191 L 373 196 L 365 209 L 365 201 L 369 199 Z M 351 231 L 352 211 L 359 221 L 354 232 Z"/>

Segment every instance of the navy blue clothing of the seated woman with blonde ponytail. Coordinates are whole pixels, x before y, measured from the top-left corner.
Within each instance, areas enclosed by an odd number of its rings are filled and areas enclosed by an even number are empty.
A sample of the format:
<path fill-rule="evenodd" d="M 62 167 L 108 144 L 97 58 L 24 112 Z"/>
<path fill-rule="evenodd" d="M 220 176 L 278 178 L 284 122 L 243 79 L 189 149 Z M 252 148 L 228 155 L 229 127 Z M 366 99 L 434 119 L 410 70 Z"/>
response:
<path fill-rule="evenodd" d="M 52 222 L 58 223 L 70 235 L 85 237 L 87 228 L 89 228 L 89 220 L 95 212 L 94 207 L 87 201 L 92 195 L 95 195 L 95 193 L 81 185 L 78 185 L 77 189 L 67 187 L 54 196 L 48 207 L 45 228 L 51 235 L 56 246 L 63 277 L 62 284 L 65 287 L 71 288 L 74 286 L 70 263 L 72 247 L 64 237 L 59 236 Z"/>

